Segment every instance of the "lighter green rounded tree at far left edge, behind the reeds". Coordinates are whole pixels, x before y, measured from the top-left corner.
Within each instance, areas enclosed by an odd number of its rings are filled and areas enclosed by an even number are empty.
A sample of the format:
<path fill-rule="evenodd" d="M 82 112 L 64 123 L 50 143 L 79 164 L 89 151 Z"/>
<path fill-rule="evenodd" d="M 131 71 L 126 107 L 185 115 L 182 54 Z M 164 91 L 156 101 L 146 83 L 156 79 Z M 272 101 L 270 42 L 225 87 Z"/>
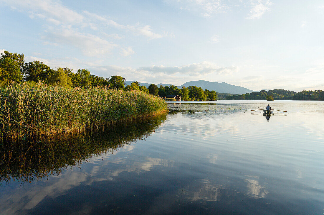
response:
<path fill-rule="evenodd" d="M 3 54 L 1 54 L 3 55 Z M 0 58 L 0 82 L 6 84 L 10 81 L 21 82 L 22 73 L 19 63 L 10 57 Z"/>

